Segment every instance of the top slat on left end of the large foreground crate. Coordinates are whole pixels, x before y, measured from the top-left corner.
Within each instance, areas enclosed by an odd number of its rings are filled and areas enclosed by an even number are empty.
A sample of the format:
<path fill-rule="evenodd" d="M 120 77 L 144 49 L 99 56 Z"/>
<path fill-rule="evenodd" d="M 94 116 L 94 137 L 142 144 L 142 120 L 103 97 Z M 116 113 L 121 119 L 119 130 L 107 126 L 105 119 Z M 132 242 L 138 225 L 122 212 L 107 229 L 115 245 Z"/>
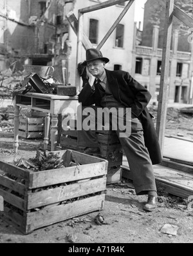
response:
<path fill-rule="evenodd" d="M 11 175 L 14 175 L 17 178 L 24 179 L 25 181 L 29 180 L 30 171 L 19 168 L 14 164 L 0 161 L 0 170 L 3 170 L 4 172 L 9 173 Z"/>

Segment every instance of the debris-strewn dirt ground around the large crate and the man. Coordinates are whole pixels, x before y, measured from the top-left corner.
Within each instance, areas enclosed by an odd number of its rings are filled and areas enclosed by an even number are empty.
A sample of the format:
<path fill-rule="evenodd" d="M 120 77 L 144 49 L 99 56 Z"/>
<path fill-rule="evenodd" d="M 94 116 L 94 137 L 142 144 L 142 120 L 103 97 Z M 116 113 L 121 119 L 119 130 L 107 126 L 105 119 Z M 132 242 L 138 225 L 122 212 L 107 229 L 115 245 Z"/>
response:
<path fill-rule="evenodd" d="M 156 114 L 154 107 L 151 110 Z M 8 122 L 11 127 L 12 121 Z M 5 127 L 2 123 L 0 127 Z M 181 114 L 176 108 L 169 109 L 167 135 L 193 139 L 192 127 L 192 115 Z M 16 157 L 35 152 L 39 143 L 40 140 L 20 139 Z M 15 157 L 13 134 L 0 132 L 0 159 L 10 161 L 11 157 Z M 0 219 L 0 243 L 192 243 L 193 209 L 187 207 L 187 200 L 168 195 L 161 188 L 158 188 L 158 195 L 157 210 L 145 212 L 143 205 L 147 197 L 137 196 L 132 181 L 122 179 L 120 183 L 107 185 L 106 201 L 101 212 L 104 224 L 96 223 L 98 212 L 93 212 L 23 235 Z M 165 224 L 170 226 L 167 231 L 163 230 Z M 73 235 L 73 240 L 69 239 L 69 235 Z"/>

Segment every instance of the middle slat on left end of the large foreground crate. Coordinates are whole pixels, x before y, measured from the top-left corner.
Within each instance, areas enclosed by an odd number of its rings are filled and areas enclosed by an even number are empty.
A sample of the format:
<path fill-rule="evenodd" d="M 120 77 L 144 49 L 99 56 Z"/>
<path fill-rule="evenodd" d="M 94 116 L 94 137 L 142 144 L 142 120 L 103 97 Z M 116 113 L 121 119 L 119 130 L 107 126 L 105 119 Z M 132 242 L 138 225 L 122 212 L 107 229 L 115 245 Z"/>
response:
<path fill-rule="evenodd" d="M 9 204 L 14 205 L 15 207 L 19 208 L 20 210 L 26 210 L 27 204 L 26 201 L 21 199 L 20 197 L 17 197 L 16 195 L 13 195 L 10 192 L 6 192 L 5 190 L 2 190 L 0 188 L 0 195 L 3 197 L 5 202 L 8 202 Z"/>

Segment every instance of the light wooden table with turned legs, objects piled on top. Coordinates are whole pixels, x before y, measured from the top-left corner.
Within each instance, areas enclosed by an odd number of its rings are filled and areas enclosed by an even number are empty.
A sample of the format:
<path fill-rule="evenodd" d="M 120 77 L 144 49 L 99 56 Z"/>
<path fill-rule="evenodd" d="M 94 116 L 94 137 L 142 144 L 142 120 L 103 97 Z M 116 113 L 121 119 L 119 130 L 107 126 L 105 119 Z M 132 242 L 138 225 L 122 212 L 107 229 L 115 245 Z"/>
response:
<path fill-rule="evenodd" d="M 17 153 L 19 146 L 19 112 L 21 108 L 30 108 L 46 113 L 44 149 L 49 143 L 49 131 L 51 139 L 51 151 L 57 147 L 58 116 L 69 113 L 77 113 L 78 96 L 62 96 L 55 94 L 38 94 L 28 92 L 17 94 L 14 99 L 14 151 Z M 50 125 L 51 121 L 51 125 Z"/>

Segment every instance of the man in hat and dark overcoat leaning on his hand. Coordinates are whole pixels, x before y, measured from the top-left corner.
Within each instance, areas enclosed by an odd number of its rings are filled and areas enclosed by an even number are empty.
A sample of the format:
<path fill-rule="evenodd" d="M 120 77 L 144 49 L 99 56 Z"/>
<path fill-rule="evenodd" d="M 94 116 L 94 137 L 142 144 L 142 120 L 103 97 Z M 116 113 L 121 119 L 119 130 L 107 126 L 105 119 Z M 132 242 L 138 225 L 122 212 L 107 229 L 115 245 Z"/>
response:
<path fill-rule="evenodd" d="M 153 211 L 156 209 L 157 192 L 152 164 L 161 162 L 161 153 L 152 116 L 147 110 L 151 95 L 128 72 L 106 70 L 105 65 L 108 62 L 109 59 L 103 57 L 97 49 L 86 50 L 84 71 L 86 70 L 89 79 L 83 78 L 83 88 L 78 95 L 78 101 L 82 106 L 89 106 L 95 110 L 123 108 L 124 114 L 131 108 L 131 135 L 121 137 L 119 128 L 115 132 L 133 173 L 136 194 L 147 194 L 144 210 Z M 96 79 L 100 80 L 96 83 Z M 82 118 L 84 119 L 83 116 Z M 99 154 L 95 130 L 78 131 L 78 146 L 86 147 L 84 153 Z"/>

